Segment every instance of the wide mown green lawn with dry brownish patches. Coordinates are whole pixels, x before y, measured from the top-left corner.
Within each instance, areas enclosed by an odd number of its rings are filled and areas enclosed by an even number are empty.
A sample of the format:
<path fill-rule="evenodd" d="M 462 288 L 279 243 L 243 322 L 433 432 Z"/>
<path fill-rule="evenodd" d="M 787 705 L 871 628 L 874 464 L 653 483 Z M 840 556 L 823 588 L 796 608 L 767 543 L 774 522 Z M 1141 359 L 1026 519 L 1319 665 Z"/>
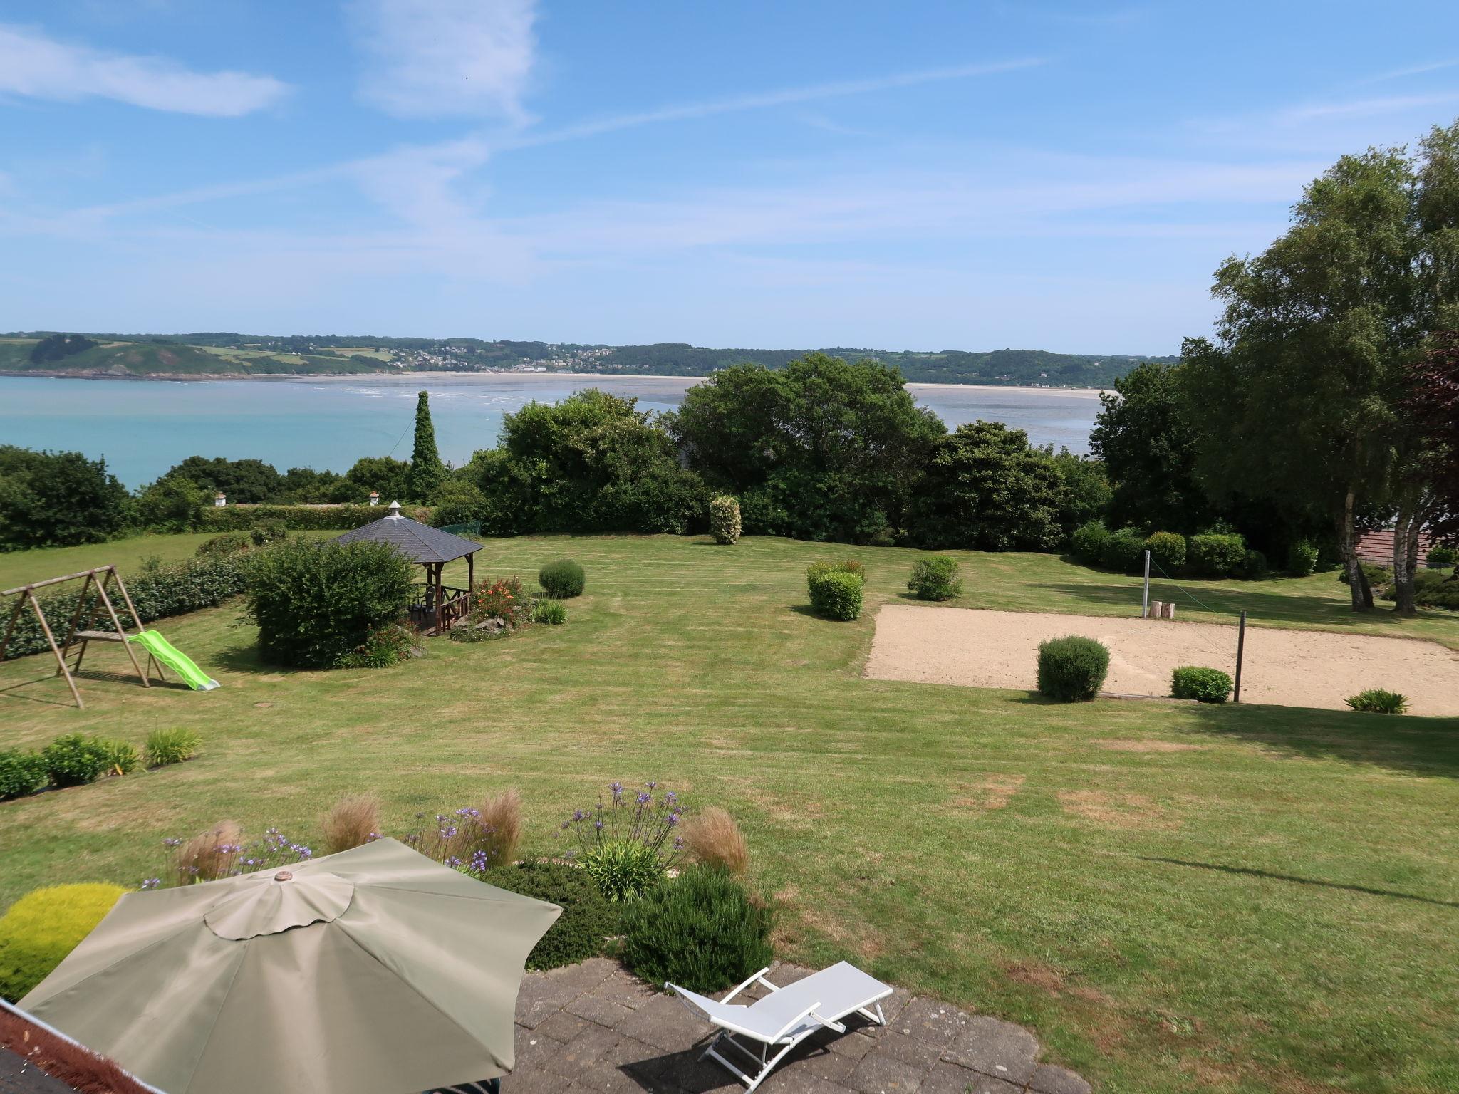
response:
<path fill-rule="evenodd" d="M 137 557 L 159 553 L 146 543 Z M 55 881 L 137 884 L 163 836 L 220 818 L 317 840 L 363 789 L 400 831 L 516 786 L 528 850 L 552 852 L 554 823 L 610 779 L 657 779 L 741 821 L 782 955 L 848 957 L 1026 1023 L 1106 1091 L 1459 1088 L 1459 719 L 864 680 L 875 610 L 915 557 L 897 548 L 492 540 L 477 575 L 559 556 L 588 570 L 568 626 L 433 640 L 392 670 L 261 667 L 231 608 L 159 623 L 217 691 L 83 678 L 77 712 L 42 659 L 0 667 L 6 744 L 206 740 L 181 767 L 0 805 L 0 906 Z M 870 573 L 856 623 L 805 608 L 805 565 L 842 556 Z M 970 607 L 1138 605 L 1137 579 L 961 557 Z M 1331 575 L 1188 588 L 1258 623 L 1459 648 L 1447 616 L 1354 621 Z"/>

